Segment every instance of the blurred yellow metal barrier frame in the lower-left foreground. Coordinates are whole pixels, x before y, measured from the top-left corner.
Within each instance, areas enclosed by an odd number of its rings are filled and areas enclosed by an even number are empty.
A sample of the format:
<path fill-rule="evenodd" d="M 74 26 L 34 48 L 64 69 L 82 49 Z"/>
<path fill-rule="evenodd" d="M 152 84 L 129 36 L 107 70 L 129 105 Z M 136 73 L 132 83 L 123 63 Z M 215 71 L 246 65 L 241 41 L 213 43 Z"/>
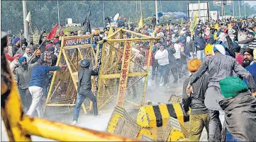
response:
<path fill-rule="evenodd" d="M 114 134 L 70 126 L 23 114 L 21 97 L 1 45 L 1 117 L 9 141 L 31 141 L 30 135 L 56 141 L 136 141 Z"/>

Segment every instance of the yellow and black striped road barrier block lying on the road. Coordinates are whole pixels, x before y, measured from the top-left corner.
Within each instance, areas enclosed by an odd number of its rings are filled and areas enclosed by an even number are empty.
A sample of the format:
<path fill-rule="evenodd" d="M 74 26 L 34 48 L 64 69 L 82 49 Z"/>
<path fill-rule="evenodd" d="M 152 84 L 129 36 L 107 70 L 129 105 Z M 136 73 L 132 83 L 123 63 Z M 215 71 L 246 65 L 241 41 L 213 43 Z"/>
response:
<path fill-rule="evenodd" d="M 143 128 L 165 126 L 169 117 L 178 119 L 182 125 L 184 122 L 189 122 L 189 116 L 185 115 L 182 104 L 168 103 L 140 107 L 137 124 Z"/>

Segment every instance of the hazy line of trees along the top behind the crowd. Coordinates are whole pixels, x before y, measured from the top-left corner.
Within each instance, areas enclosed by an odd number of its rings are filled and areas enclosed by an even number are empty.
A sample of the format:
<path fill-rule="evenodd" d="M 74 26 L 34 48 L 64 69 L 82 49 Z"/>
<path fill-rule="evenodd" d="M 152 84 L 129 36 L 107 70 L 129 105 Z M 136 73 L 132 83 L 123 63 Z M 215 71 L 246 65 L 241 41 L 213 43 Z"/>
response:
<path fill-rule="evenodd" d="M 26 1 L 28 11 L 31 12 L 32 28 L 50 30 L 57 22 L 57 1 Z M 181 11 L 187 13 L 187 4 L 198 1 L 158 1 L 158 11 Z M 206 2 L 206 1 L 201 1 Z M 137 6 L 136 6 L 137 5 Z M 91 7 L 91 26 L 103 27 L 103 1 L 59 1 L 60 24 L 65 25 L 66 18 L 72 18 L 73 23 L 83 23 Z M 136 8 L 137 7 L 137 8 Z M 141 1 L 143 18 L 155 14 L 155 1 Z M 210 1 L 210 11 L 220 11 L 221 6 L 213 6 Z M 244 6 L 240 6 L 241 16 L 244 16 Z M 161 12 L 161 11 L 160 11 Z M 120 13 L 120 16 L 130 20 L 140 19 L 140 1 L 104 1 L 105 18 Z M 233 16 L 233 6 L 225 6 L 226 15 Z M 255 13 L 255 8 L 246 4 L 246 15 Z M 235 16 L 238 13 L 238 1 L 235 1 Z M 106 21 L 105 21 L 106 23 Z M 1 29 L 11 30 L 18 34 L 23 29 L 22 1 L 1 1 Z"/>

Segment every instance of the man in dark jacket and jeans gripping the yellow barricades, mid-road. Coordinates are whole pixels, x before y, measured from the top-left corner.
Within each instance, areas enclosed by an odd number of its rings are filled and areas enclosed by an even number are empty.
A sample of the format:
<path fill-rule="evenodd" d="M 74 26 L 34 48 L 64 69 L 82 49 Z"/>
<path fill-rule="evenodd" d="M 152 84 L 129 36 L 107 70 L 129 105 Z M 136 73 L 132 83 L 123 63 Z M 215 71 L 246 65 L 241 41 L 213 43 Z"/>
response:
<path fill-rule="evenodd" d="M 91 76 L 98 76 L 98 71 L 96 69 L 89 69 L 90 61 L 84 59 L 81 61 L 80 65 L 82 69 L 78 72 L 78 85 L 77 85 L 77 101 L 76 106 L 74 107 L 74 119 L 72 124 L 77 124 L 77 119 L 79 117 L 79 110 L 84 102 L 85 97 L 89 97 L 89 99 L 93 102 L 94 107 L 94 116 L 98 115 L 98 107 L 97 101 L 94 94 L 91 92 Z"/>

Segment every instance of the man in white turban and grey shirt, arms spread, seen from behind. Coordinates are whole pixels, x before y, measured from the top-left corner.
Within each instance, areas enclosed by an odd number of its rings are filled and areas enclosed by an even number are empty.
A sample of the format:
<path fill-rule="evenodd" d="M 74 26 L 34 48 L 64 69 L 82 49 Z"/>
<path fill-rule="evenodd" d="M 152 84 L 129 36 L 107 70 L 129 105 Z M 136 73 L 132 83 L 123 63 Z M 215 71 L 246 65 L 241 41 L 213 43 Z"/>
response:
<path fill-rule="evenodd" d="M 233 71 L 243 78 L 247 79 L 247 84 L 252 91 L 252 94 L 256 94 L 255 82 L 252 75 L 246 71 L 243 66 L 238 64 L 233 57 L 226 56 L 225 48 L 222 45 L 213 46 L 213 57 L 205 59 L 202 66 L 198 71 L 193 73 L 189 80 L 187 87 L 187 93 L 190 95 L 193 93 L 193 84 L 201 78 L 206 71 L 209 74 L 208 88 L 205 95 L 205 105 L 209 110 L 210 122 L 209 122 L 209 139 L 208 141 L 221 141 L 221 120 L 219 119 L 219 111 L 223 111 L 218 105 L 218 102 L 223 100 L 221 95 L 219 81 L 228 76 L 233 76 Z"/>

